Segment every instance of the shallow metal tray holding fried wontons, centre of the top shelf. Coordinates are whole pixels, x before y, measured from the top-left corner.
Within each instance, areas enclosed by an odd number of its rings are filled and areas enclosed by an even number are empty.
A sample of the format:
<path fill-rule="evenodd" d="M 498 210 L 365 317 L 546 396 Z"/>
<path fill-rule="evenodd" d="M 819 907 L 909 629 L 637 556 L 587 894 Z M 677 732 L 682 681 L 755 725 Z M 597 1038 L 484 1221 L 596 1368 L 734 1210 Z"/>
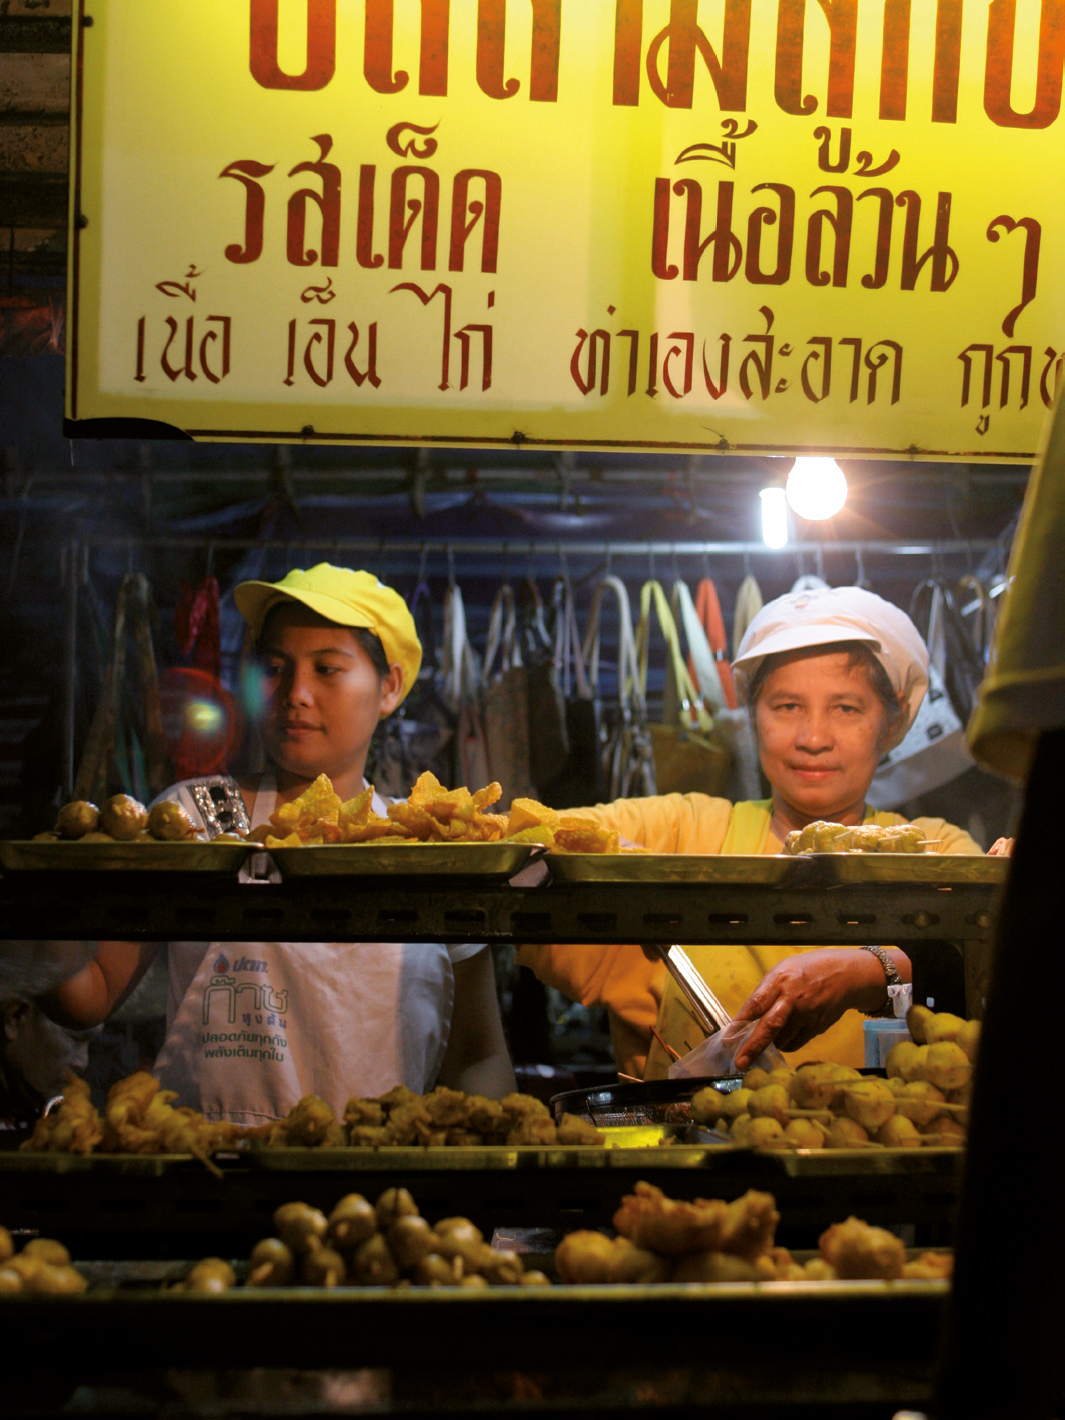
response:
<path fill-rule="evenodd" d="M 320 843 L 270 848 L 283 878 L 513 878 L 535 843 Z"/>

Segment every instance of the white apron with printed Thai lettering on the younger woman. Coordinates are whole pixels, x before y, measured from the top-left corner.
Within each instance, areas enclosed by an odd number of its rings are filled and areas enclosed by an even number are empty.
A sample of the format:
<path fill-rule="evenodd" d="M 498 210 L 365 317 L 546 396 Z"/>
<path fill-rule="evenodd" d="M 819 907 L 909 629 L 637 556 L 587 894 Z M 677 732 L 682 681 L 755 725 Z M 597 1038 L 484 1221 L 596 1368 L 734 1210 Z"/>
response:
<path fill-rule="evenodd" d="M 189 782 L 162 798 L 195 819 Z M 253 828 L 277 799 L 263 775 Z M 375 795 L 373 808 L 385 814 Z M 267 853 L 241 872 L 273 873 Z M 250 889 L 248 889 L 250 890 Z M 155 1062 L 165 1089 L 209 1119 L 258 1125 L 320 1095 L 338 1115 L 352 1095 L 436 1082 L 454 1004 L 453 961 L 480 943 L 170 941 L 166 1039 Z"/>

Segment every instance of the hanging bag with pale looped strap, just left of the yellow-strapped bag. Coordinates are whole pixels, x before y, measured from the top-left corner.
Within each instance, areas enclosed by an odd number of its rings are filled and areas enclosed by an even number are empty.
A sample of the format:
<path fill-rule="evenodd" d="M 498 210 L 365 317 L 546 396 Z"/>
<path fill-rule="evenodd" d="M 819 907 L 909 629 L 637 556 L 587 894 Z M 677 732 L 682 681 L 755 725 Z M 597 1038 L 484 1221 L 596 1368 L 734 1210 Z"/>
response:
<path fill-rule="evenodd" d="M 599 613 L 604 596 L 618 601 L 618 693 L 609 700 L 599 686 Z M 648 707 L 639 687 L 636 642 L 629 594 L 618 577 L 604 577 L 595 588 L 584 642 L 584 659 L 596 703 L 598 774 L 601 799 L 657 792 L 655 751 L 648 731 Z"/>

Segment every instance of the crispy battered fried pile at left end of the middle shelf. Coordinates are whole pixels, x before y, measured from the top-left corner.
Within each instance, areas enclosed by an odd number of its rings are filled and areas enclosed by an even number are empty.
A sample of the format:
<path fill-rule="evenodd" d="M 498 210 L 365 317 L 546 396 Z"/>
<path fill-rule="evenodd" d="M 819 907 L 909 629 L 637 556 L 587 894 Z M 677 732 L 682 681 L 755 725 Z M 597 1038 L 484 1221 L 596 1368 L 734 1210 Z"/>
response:
<path fill-rule="evenodd" d="M 111 1086 L 101 1118 L 85 1081 L 67 1071 L 62 1100 L 37 1120 L 21 1147 L 31 1153 L 92 1153 L 97 1146 L 99 1153 L 190 1153 L 209 1163 L 212 1153 L 243 1135 L 239 1125 L 175 1109 L 176 1098 L 148 1071 L 138 1071 Z"/>

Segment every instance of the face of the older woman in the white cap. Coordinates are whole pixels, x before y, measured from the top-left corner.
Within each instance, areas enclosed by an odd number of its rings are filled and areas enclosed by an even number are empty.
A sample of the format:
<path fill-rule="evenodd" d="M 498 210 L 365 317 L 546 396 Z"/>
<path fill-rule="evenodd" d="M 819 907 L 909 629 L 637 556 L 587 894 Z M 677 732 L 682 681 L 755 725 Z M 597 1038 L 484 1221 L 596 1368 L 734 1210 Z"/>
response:
<path fill-rule="evenodd" d="M 765 778 L 798 815 L 861 807 L 880 758 L 885 709 L 846 652 L 795 656 L 765 677 L 754 711 Z"/>

